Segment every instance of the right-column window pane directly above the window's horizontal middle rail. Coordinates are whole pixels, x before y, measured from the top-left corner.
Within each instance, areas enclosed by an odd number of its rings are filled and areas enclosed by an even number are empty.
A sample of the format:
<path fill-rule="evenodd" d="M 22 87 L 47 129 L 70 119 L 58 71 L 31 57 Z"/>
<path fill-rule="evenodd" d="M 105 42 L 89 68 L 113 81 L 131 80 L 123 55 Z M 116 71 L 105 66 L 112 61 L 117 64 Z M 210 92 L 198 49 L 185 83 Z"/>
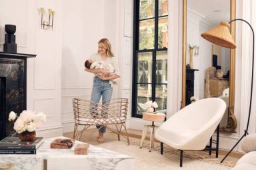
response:
<path fill-rule="evenodd" d="M 168 47 L 168 18 L 159 18 L 158 21 L 158 48 Z"/>

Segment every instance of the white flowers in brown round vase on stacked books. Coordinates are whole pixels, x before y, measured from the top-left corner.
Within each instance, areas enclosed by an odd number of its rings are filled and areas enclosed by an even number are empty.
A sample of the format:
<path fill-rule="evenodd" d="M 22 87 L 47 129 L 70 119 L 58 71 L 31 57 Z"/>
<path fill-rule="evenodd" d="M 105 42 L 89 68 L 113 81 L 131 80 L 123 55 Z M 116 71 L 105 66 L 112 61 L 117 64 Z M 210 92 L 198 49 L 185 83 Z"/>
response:
<path fill-rule="evenodd" d="M 21 141 L 35 139 L 35 129 L 45 120 L 46 116 L 42 112 L 36 114 L 35 111 L 22 111 L 19 116 L 13 111 L 9 113 L 9 121 L 15 121 L 13 129 L 18 133 Z"/>

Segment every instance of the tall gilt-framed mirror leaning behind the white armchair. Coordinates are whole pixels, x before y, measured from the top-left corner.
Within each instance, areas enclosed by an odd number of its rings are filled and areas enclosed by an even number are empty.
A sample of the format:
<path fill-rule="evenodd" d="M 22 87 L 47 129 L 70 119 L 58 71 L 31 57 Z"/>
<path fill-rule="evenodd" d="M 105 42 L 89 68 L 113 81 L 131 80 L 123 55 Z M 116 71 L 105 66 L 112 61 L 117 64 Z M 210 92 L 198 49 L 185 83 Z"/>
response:
<path fill-rule="evenodd" d="M 235 50 L 213 45 L 201 33 L 235 18 L 235 0 L 183 0 L 183 77 L 181 107 L 219 97 L 227 103 L 221 131 L 237 128 L 234 114 Z M 235 25 L 231 25 L 235 39 Z M 207 114 L 207 113 L 205 113 Z"/>

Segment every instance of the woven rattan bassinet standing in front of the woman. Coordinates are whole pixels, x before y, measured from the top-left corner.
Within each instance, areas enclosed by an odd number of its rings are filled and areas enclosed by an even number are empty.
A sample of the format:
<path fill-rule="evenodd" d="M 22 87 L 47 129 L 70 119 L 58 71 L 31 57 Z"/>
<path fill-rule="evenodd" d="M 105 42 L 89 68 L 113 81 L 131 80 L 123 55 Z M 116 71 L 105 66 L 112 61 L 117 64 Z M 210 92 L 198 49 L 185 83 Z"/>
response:
<path fill-rule="evenodd" d="M 121 129 L 124 128 L 125 135 L 129 145 L 129 135 L 127 133 L 125 121 L 127 118 L 128 99 L 119 98 L 103 101 L 103 103 L 94 103 L 87 99 L 74 98 L 73 110 L 75 118 L 75 127 L 73 139 L 81 139 L 83 132 L 92 125 L 105 126 L 113 133 L 117 134 L 120 141 Z M 78 126 L 82 125 L 83 129 L 78 131 Z M 108 125 L 115 125 L 116 130 Z M 119 127 L 120 125 L 120 127 Z"/>

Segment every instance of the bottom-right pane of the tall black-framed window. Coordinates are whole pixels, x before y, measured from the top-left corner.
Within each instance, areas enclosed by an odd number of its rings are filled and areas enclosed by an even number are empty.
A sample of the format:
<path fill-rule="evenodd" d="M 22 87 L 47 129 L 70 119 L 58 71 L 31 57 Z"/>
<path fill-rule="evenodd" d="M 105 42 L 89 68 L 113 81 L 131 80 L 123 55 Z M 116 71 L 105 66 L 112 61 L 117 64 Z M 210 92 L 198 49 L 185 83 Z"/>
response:
<path fill-rule="evenodd" d="M 167 109 L 167 85 L 160 85 L 161 88 L 155 89 L 155 101 L 158 104 L 155 111 L 163 111 Z"/>

